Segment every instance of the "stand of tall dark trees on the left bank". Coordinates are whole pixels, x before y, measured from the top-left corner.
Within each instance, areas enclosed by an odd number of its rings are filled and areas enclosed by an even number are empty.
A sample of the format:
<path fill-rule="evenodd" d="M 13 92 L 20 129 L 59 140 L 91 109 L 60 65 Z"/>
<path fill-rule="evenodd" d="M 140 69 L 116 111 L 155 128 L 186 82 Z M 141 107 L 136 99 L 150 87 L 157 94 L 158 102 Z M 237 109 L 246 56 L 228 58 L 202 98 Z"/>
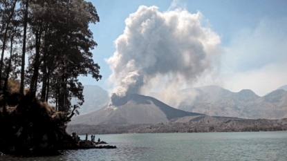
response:
<path fill-rule="evenodd" d="M 91 53 L 97 43 L 89 24 L 100 21 L 92 3 L 0 0 L 0 21 L 1 95 L 7 94 L 8 80 L 15 80 L 21 97 L 26 88 L 26 95 L 49 100 L 57 111 L 78 113 L 84 102 L 78 77 L 102 77 Z M 72 97 L 77 104 L 71 104 Z"/>

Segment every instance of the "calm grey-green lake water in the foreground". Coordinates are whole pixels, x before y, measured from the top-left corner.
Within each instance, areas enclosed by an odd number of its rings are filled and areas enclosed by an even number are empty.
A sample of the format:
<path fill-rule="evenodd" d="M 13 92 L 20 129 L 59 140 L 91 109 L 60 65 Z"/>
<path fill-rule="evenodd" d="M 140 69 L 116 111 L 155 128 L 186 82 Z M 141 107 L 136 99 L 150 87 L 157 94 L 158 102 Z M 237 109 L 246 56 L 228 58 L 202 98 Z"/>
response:
<path fill-rule="evenodd" d="M 118 148 L 0 160 L 287 160 L 287 131 L 95 135 L 98 138 Z"/>

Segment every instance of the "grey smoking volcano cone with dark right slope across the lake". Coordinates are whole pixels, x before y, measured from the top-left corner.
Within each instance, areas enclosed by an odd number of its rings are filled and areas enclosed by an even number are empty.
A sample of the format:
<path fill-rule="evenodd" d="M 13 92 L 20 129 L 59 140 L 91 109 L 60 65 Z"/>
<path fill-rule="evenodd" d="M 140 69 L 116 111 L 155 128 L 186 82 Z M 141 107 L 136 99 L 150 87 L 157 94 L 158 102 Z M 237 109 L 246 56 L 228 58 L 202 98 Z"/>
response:
<path fill-rule="evenodd" d="M 69 124 L 158 124 L 176 117 L 193 115 L 203 114 L 172 108 L 154 97 L 131 94 L 118 100 L 118 106 L 106 105 L 98 111 L 78 115 Z"/>

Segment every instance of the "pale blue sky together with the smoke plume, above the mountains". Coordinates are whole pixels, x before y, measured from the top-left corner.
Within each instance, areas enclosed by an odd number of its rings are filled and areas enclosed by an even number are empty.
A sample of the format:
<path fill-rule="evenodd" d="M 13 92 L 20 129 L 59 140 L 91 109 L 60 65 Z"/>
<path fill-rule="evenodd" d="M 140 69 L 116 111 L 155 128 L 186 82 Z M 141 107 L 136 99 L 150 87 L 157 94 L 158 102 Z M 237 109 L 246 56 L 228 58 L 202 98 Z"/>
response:
<path fill-rule="evenodd" d="M 80 77 L 84 85 L 145 95 L 216 85 L 263 96 L 287 84 L 287 1 L 91 2 L 102 79 Z"/>

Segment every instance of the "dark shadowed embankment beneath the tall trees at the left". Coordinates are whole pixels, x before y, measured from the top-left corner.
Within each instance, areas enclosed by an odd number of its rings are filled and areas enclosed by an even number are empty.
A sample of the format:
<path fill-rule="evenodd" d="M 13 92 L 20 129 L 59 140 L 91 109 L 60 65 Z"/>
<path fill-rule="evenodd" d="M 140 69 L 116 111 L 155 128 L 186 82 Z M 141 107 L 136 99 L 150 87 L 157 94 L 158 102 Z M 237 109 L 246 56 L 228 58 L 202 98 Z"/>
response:
<path fill-rule="evenodd" d="M 52 106 L 35 97 L 20 97 L 13 88 L 15 86 L 8 87 L 5 108 L 3 91 L 0 91 L 0 151 L 43 155 L 73 148 L 75 142 L 66 133 L 67 114 L 54 111 Z"/>

